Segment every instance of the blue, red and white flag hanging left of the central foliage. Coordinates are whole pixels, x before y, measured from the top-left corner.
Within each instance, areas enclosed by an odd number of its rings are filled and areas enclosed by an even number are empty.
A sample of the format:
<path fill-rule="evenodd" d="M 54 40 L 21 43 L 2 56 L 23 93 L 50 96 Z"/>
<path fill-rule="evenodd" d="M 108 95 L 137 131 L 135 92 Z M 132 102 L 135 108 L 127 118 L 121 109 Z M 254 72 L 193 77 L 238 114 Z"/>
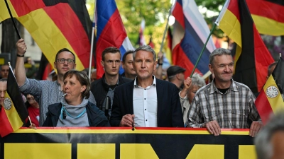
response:
<path fill-rule="evenodd" d="M 126 35 L 119 10 L 114 0 L 97 0 L 97 78 L 102 78 L 104 68 L 101 65 L 102 51 L 107 47 L 117 47 L 124 53 L 134 49 Z M 123 70 L 119 70 L 122 73 Z"/>

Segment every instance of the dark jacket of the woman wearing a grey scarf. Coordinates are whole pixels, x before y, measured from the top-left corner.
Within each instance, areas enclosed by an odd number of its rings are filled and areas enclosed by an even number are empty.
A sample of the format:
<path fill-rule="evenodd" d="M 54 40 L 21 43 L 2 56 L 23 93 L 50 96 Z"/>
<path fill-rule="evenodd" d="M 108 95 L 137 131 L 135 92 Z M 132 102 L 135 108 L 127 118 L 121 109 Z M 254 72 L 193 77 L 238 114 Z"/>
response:
<path fill-rule="evenodd" d="M 61 103 L 48 105 L 48 113 L 43 126 L 56 127 L 56 125 L 58 124 L 58 119 L 60 117 L 61 108 Z M 99 110 L 96 105 L 94 105 L 94 103 L 88 102 L 88 104 L 86 105 L 86 112 L 89 119 L 89 126 L 110 126 L 107 117 L 104 116 L 104 112 L 102 112 L 102 110 Z"/>

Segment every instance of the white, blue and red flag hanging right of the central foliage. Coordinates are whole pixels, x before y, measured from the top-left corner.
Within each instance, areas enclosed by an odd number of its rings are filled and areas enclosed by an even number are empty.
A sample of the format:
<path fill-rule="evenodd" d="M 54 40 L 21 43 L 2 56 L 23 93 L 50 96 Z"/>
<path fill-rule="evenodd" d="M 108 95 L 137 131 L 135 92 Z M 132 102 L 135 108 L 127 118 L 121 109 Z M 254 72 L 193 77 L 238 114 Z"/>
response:
<path fill-rule="evenodd" d="M 187 77 L 190 76 L 210 31 L 194 0 L 177 0 L 173 16 L 173 64 L 185 68 Z M 209 54 L 214 49 L 216 47 L 210 37 L 195 72 L 205 74 L 209 71 Z"/>

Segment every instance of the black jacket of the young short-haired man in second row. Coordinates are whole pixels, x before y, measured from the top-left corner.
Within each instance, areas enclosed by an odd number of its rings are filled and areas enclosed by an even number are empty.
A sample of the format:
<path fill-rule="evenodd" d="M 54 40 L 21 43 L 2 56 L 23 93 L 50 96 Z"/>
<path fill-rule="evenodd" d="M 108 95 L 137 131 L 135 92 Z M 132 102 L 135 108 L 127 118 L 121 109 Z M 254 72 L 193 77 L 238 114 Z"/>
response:
<path fill-rule="evenodd" d="M 91 84 L 91 92 L 94 95 L 94 99 L 97 102 L 97 107 L 99 107 L 99 110 L 102 110 L 102 105 L 104 104 L 104 100 L 107 98 L 107 92 L 109 91 L 109 85 L 105 82 L 104 75 L 102 76 L 102 78 L 99 78 L 97 81 L 94 81 Z M 119 75 L 118 86 L 131 81 L 131 79 L 124 78 Z"/>

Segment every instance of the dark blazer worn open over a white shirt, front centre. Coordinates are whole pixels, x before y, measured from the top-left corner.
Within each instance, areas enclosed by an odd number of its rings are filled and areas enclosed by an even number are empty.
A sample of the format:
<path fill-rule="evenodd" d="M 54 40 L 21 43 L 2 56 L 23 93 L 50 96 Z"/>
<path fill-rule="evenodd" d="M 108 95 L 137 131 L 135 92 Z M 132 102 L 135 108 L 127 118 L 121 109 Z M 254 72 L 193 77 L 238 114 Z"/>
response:
<path fill-rule="evenodd" d="M 119 126 L 122 116 L 133 114 L 134 81 L 116 87 L 111 109 L 111 126 Z M 178 88 L 168 81 L 156 78 L 158 127 L 184 127 Z"/>

